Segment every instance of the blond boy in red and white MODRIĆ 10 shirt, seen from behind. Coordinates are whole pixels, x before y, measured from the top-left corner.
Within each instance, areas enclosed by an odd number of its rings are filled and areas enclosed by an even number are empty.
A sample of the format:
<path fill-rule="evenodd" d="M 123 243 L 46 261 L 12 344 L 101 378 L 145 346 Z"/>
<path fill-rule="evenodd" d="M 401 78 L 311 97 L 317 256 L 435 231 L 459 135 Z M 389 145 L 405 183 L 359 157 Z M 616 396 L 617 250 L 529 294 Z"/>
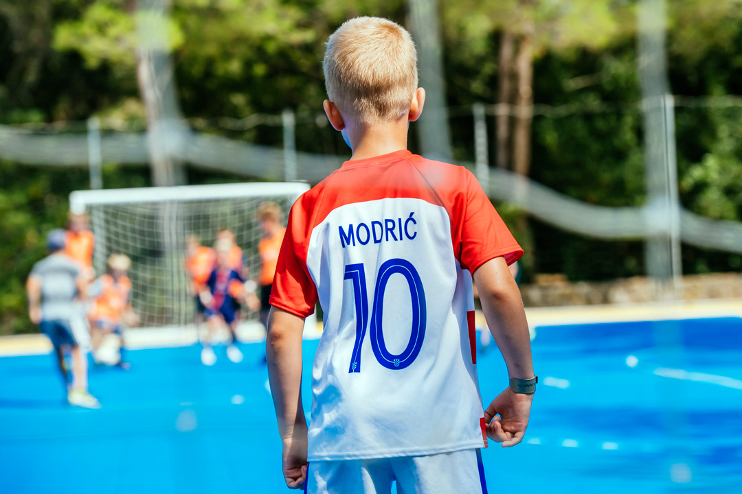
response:
<path fill-rule="evenodd" d="M 533 398 L 523 392 L 535 390 L 508 272 L 522 250 L 471 173 L 407 150 L 425 93 L 406 30 L 347 21 L 327 42 L 324 72 L 324 110 L 352 158 L 292 207 L 273 281 L 266 352 L 286 484 L 486 493 L 479 448 L 487 436 L 504 447 L 522 440 Z M 471 273 L 512 378 L 487 410 Z M 318 300 L 324 333 L 307 430 L 301 336 Z"/>

